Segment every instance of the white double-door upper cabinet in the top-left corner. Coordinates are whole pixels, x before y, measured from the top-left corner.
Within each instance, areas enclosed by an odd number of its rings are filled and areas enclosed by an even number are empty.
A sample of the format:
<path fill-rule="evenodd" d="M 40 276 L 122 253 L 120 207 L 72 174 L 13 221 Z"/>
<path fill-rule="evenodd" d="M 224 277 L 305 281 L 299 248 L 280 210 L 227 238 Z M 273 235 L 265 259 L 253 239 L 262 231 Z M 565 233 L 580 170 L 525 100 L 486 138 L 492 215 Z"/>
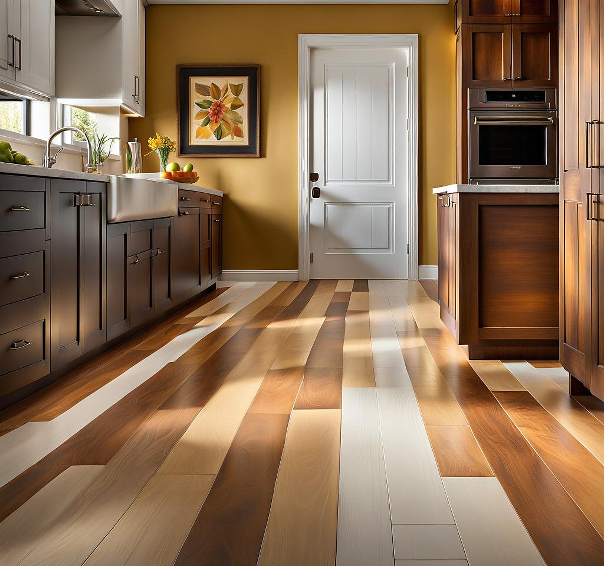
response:
<path fill-rule="evenodd" d="M 0 0 L 0 79 L 54 94 L 54 0 Z"/>

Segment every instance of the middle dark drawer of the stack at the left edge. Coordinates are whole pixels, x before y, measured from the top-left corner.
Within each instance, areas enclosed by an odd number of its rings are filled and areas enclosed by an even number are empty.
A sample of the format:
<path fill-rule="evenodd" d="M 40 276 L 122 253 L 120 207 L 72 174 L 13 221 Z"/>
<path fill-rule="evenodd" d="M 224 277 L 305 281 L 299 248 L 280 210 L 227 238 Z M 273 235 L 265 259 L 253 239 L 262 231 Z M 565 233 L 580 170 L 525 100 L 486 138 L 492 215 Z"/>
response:
<path fill-rule="evenodd" d="M 0 259 L 0 306 L 44 292 L 44 252 Z"/>

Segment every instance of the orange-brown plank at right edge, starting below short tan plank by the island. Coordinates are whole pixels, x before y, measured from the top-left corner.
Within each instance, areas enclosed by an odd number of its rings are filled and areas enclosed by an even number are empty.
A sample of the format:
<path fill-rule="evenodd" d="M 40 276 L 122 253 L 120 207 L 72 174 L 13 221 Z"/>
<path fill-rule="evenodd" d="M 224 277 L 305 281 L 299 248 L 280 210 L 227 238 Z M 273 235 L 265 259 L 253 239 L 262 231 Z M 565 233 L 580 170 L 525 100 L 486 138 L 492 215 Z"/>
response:
<path fill-rule="evenodd" d="M 600 535 L 604 536 L 604 466 L 528 391 L 493 392 Z"/>

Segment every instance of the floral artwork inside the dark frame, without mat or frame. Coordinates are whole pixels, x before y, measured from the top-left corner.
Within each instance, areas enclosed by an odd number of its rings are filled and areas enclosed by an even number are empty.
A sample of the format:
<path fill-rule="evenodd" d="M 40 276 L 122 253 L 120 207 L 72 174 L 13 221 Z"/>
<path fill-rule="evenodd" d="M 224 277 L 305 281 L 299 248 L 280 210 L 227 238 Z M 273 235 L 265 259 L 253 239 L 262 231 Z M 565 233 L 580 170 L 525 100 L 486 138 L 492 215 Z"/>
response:
<path fill-rule="evenodd" d="M 248 77 L 190 77 L 191 145 L 248 144 Z"/>

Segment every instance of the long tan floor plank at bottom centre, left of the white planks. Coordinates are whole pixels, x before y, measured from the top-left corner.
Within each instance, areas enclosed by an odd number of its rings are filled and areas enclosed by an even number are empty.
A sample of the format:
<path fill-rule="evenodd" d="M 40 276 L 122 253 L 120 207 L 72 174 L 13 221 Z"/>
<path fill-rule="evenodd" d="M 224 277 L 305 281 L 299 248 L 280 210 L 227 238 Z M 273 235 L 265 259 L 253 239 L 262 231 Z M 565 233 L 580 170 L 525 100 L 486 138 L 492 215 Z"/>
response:
<path fill-rule="evenodd" d="M 340 418 L 333 409 L 292 411 L 259 566 L 334 564 Z"/>

